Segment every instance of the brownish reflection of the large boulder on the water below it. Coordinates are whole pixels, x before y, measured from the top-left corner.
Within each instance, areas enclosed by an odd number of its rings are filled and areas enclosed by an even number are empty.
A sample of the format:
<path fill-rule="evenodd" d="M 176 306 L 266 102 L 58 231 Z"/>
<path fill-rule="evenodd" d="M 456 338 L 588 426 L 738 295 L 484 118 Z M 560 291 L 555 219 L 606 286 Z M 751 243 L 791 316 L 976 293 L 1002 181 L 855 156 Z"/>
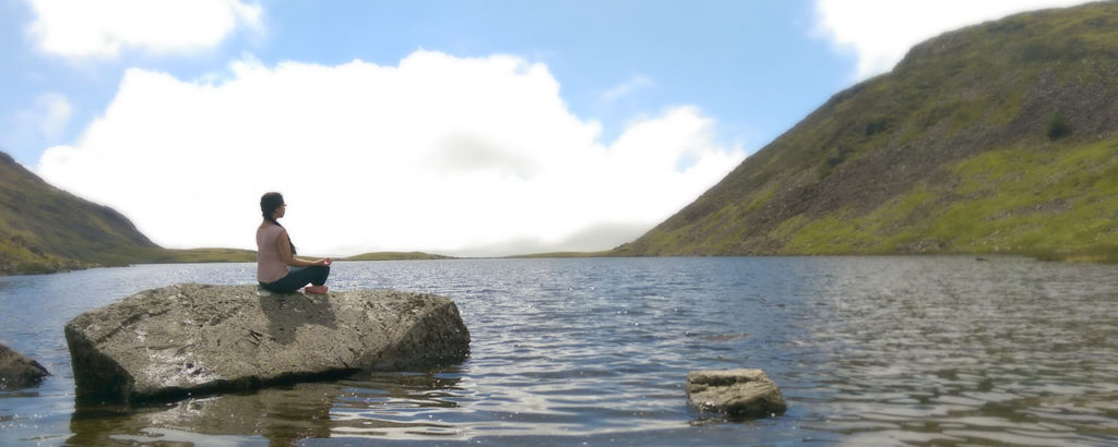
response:
<path fill-rule="evenodd" d="M 444 374 L 366 373 L 338 382 L 299 383 L 149 408 L 83 408 L 74 412 L 74 435 L 67 443 L 288 445 L 338 436 L 453 436 L 453 427 L 416 419 L 414 411 L 454 407 L 444 399 L 453 396 L 457 382 Z"/>

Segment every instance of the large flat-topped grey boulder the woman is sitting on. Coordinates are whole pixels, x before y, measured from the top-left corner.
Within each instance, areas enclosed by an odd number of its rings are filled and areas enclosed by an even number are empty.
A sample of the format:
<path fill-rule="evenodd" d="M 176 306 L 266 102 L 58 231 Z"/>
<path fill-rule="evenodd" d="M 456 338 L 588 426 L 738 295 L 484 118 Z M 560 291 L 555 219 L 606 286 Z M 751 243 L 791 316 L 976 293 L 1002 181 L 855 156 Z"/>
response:
<path fill-rule="evenodd" d="M 66 342 L 79 401 L 135 403 L 461 361 L 470 332 L 430 294 L 179 284 L 78 315 Z"/>

